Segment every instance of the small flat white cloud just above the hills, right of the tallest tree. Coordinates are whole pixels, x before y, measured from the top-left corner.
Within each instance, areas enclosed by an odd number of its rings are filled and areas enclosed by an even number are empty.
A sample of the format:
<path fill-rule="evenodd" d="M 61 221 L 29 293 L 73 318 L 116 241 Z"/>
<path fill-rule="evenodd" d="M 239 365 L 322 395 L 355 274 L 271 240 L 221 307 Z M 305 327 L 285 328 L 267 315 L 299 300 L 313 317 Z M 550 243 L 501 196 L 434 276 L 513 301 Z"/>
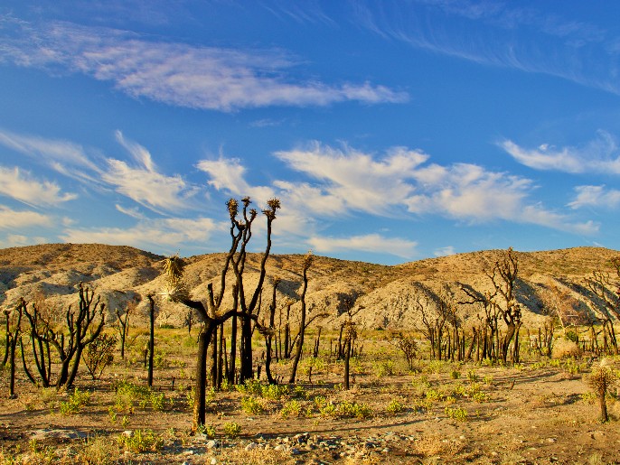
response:
<path fill-rule="evenodd" d="M 352 237 L 310 237 L 308 244 L 315 252 L 330 254 L 343 250 L 361 250 L 376 254 L 390 254 L 403 258 L 416 255 L 418 243 L 399 237 L 383 237 L 379 234 Z"/>

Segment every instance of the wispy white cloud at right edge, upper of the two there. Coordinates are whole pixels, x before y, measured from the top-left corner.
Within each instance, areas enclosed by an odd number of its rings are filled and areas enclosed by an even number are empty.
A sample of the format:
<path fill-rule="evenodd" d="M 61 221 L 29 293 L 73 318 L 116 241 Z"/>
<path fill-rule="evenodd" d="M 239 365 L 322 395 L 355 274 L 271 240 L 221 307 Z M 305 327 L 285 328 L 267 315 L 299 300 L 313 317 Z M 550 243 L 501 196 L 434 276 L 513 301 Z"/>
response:
<path fill-rule="evenodd" d="M 535 149 L 526 149 L 510 140 L 499 145 L 517 162 L 536 170 L 620 174 L 618 146 L 615 138 L 605 131 L 598 131 L 597 138 L 583 147 L 540 144 Z"/>

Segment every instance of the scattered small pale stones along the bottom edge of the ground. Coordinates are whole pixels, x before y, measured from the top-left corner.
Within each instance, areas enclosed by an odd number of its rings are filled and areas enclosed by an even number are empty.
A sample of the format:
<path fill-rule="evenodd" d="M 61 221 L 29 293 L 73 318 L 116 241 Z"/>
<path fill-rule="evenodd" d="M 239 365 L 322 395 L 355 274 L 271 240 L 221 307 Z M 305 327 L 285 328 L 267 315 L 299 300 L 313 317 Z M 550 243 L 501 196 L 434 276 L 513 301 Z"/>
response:
<path fill-rule="evenodd" d="M 211 453 L 211 464 L 220 463 L 218 456 L 224 451 L 240 448 L 245 451 L 273 450 L 281 451 L 291 457 L 298 457 L 296 463 L 327 464 L 333 460 L 346 457 L 363 460 L 371 455 L 407 456 L 414 449 L 414 436 L 386 432 L 362 437 L 360 435 L 339 436 L 335 434 L 297 433 L 292 436 L 267 437 L 261 433 L 250 439 L 220 440 L 211 439 L 205 434 L 198 434 L 193 439 L 193 446 L 185 449 L 183 465 L 191 465 L 192 456 Z"/>

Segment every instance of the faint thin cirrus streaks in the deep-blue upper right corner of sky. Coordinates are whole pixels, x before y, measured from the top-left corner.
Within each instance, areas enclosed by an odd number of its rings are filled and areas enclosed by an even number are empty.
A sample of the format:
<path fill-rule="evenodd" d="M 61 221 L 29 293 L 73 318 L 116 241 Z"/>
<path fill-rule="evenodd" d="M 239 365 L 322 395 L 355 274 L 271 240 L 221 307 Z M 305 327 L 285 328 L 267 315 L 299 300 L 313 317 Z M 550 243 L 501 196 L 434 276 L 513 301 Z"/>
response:
<path fill-rule="evenodd" d="M 355 23 L 411 47 L 543 73 L 620 94 L 620 38 L 597 24 L 510 2 L 355 2 Z M 567 17 L 568 16 L 568 17 Z"/>

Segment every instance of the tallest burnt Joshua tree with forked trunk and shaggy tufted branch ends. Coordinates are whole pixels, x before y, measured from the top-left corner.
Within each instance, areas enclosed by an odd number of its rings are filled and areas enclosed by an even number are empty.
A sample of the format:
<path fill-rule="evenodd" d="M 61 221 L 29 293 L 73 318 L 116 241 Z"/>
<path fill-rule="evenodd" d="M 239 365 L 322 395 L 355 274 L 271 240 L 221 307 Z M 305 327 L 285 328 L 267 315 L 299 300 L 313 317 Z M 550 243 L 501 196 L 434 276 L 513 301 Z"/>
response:
<path fill-rule="evenodd" d="M 169 257 L 164 261 L 164 271 L 167 274 L 168 284 L 164 294 L 166 294 L 174 302 L 181 302 L 193 309 L 199 320 L 203 322 L 202 329 L 198 335 L 198 357 L 196 360 L 195 390 L 194 390 L 194 406 L 193 406 L 193 431 L 196 431 L 200 425 L 204 424 L 205 407 L 206 407 L 206 386 L 207 386 L 207 362 L 208 349 L 213 338 L 213 333 L 221 324 L 228 321 L 232 317 L 241 317 L 242 321 L 253 320 L 256 322 L 257 316 L 253 313 L 261 292 L 263 282 L 266 275 L 266 264 L 271 250 L 271 234 L 272 223 L 276 219 L 276 211 L 280 208 L 280 201 L 277 199 L 268 200 L 268 209 L 263 210 L 263 214 L 267 219 L 267 246 L 260 262 L 260 274 L 257 287 L 252 293 L 249 303 L 245 298 L 245 289 L 243 286 L 243 274 L 246 263 L 246 246 L 252 236 L 251 227 L 254 219 L 257 217 L 255 209 L 248 209 L 250 200 L 248 197 L 242 200 L 243 209 L 239 212 L 239 201 L 230 199 L 227 202 L 228 212 L 230 216 L 230 249 L 224 261 L 220 276 L 220 288 L 216 292 L 213 284 L 207 285 L 206 303 L 190 298 L 189 293 L 183 283 L 183 261 L 178 256 Z M 240 214 L 240 218 L 239 217 Z M 232 303 L 229 310 L 221 312 L 221 304 L 224 294 L 227 290 L 227 274 L 232 268 L 235 281 L 230 287 Z M 250 329 L 251 335 L 251 329 Z M 213 348 L 217 350 L 217 348 Z M 246 349 L 251 349 L 251 345 Z M 245 356 L 248 363 L 248 356 Z M 213 358 L 211 358 L 212 362 Z M 232 359 L 230 360 L 232 363 Z M 242 361 L 243 363 L 243 361 Z M 251 363 L 251 354 L 249 357 Z M 243 367 L 242 367 L 243 369 Z M 251 371 L 245 367 L 245 373 Z M 211 370 L 209 370 L 210 372 Z M 216 382 L 216 379 L 211 379 Z"/>

